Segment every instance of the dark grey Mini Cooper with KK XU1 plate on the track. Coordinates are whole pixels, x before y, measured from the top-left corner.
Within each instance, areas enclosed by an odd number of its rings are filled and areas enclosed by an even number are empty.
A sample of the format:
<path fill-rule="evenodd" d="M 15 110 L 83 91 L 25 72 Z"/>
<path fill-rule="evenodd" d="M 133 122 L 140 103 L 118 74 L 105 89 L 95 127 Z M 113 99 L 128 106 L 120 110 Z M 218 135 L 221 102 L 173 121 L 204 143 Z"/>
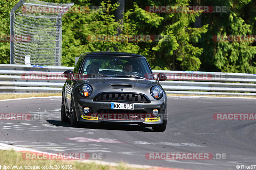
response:
<path fill-rule="evenodd" d="M 79 123 L 121 123 L 152 127 L 163 132 L 167 124 L 166 93 L 142 55 L 90 52 L 80 55 L 62 89 L 61 120 Z"/>

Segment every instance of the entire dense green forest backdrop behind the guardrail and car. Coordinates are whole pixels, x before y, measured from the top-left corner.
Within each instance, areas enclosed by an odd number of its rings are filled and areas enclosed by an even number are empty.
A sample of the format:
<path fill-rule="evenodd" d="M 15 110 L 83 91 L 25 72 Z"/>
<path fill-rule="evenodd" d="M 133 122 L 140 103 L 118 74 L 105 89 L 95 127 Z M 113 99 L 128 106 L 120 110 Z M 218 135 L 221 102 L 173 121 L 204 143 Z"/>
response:
<path fill-rule="evenodd" d="M 88 13 L 66 13 L 62 18 L 62 65 L 74 65 L 84 52 L 132 52 L 144 55 L 153 69 L 256 73 L 256 42 L 215 42 L 214 35 L 255 35 L 253 0 L 125 0 L 123 19 L 115 20 L 118 3 L 109 0 L 47 0 L 101 6 Z M 18 0 L 0 2 L 0 34 L 9 34 L 9 12 Z M 150 13 L 150 5 L 228 6 L 223 13 Z M 123 7 L 122 7 L 123 11 Z M 200 16 L 200 17 L 199 17 Z M 199 17 L 199 18 L 198 18 Z M 94 42 L 90 35 L 161 35 L 159 42 Z M 119 32 L 121 33 L 121 32 Z M 10 42 L 0 42 L 0 63 L 9 63 Z"/>

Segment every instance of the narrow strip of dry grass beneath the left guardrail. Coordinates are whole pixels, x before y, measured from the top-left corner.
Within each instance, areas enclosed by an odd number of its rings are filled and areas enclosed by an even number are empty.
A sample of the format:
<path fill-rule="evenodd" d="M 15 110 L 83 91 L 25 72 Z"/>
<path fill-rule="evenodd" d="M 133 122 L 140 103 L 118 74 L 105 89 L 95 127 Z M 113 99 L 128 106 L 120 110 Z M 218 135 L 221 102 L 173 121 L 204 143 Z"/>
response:
<path fill-rule="evenodd" d="M 16 99 L 24 97 L 47 97 L 47 96 L 61 96 L 61 93 L 4 93 L 0 95 L 0 100 Z"/>

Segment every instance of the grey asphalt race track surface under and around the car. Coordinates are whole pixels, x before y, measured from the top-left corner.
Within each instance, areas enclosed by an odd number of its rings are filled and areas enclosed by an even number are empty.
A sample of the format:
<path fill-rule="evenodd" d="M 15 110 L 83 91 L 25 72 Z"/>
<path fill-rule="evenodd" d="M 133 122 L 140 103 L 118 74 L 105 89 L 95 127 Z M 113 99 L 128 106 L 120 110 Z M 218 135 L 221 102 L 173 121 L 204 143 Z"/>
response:
<path fill-rule="evenodd" d="M 0 101 L 0 113 L 42 115 L 39 120 L 0 120 L 0 142 L 50 153 L 104 153 L 103 161 L 172 168 L 256 164 L 256 121 L 212 118 L 214 113 L 256 113 L 256 99 L 171 96 L 167 101 L 165 132 L 137 125 L 72 128 L 60 121 L 61 98 Z M 226 159 L 148 160 L 149 152 L 224 153 Z"/>

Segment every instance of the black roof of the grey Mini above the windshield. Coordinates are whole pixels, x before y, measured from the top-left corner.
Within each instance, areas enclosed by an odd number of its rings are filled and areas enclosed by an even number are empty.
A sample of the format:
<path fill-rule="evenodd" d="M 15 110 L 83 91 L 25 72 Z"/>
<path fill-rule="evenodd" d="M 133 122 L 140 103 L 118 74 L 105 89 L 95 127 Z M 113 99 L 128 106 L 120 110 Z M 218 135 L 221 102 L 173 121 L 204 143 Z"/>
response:
<path fill-rule="evenodd" d="M 113 51 L 99 51 L 99 52 L 88 52 L 81 54 L 80 56 L 123 56 L 123 57 L 141 57 L 145 58 L 143 55 L 124 53 L 124 52 L 113 52 Z"/>

